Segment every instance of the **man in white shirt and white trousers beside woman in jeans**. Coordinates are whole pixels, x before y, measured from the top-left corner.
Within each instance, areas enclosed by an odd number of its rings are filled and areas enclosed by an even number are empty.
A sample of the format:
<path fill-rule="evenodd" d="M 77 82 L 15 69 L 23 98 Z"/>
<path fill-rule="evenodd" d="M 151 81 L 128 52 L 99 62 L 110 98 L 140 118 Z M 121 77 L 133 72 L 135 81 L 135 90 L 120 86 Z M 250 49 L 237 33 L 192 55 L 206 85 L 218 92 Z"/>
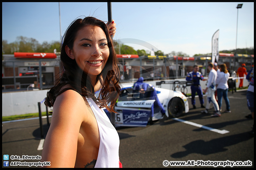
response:
<path fill-rule="evenodd" d="M 211 117 L 220 117 L 219 105 L 214 97 L 214 92 L 216 90 L 216 79 L 217 79 L 217 72 L 213 68 L 213 63 L 209 63 L 208 65 L 209 75 L 208 75 L 208 82 L 206 89 L 204 89 L 204 93 L 207 94 L 207 103 L 206 109 L 202 111 L 202 113 L 208 114 L 208 110 L 210 108 L 210 103 L 213 103 L 214 107 L 214 114 Z"/>

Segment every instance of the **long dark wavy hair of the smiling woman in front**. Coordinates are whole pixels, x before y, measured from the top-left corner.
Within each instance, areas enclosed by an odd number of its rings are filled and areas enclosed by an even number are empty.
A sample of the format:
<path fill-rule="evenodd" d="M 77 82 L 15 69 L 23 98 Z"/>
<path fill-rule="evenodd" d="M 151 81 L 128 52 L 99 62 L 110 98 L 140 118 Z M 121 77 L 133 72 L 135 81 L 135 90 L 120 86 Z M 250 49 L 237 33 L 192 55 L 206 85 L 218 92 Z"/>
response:
<path fill-rule="evenodd" d="M 102 72 L 97 75 L 96 83 L 100 81 L 102 88 L 98 98 L 95 97 L 94 86 L 91 84 L 89 76 L 76 64 L 76 61 L 71 59 L 65 51 L 67 45 L 71 50 L 73 49 L 74 40 L 78 31 L 85 26 L 97 26 L 100 27 L 106 34 L 108 48 L 110 55 L 107 63 Z M 48 107 L 53 107 L 53 104 L 58 95 L 66 90 L 75 90 L 82 97 L 92 98 L 100 108 L 105 107 L 110 112 L 115 112 L 113 107 L 116 103 L 119 92 L 119 69 L 117 66 L 118 60 L 113 47 L 113 42 L 107 29 L 106 24 L 94 17 L 85 17 L 84 19 L 76 19 L 73 21 L 64 34 L 63 44 L 60 52 L 60 69 L 63 69 L 62 75 L 54 87 L 47 92 L 46 101 L 44 104 Z M 64 88 L 60 90 L 64 85 L 70 84 L 71 88 Z M 110 106 L 108 106 L 110 103 Z"/>

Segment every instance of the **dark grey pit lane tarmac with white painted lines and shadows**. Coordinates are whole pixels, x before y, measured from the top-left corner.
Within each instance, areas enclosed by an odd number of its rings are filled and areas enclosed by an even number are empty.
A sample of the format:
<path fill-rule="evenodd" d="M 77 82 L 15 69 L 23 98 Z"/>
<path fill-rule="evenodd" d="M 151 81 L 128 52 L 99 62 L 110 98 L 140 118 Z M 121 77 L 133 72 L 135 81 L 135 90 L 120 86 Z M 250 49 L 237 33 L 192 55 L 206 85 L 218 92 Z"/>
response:
<path fill-rule="evenodd" d="M 204 128 L 186 124 L 175 119 L 155 121 L 146 127 L 117 128 L 120 137 L 119 157 L 124 168 L 213 168 L 213 166 L 167 166 L 168 161 L 252 161 L 252 166 L 235 166 L 254 168 L 254 137 L 249 134 L 254 121 L 245 116 L 250 113 L 247 108 L 246 91 L 228 93 L 231 113 L 222 113 L 221 117 L 211 118 L 210 114 L 201 114 L 199 99 L 196 109 L 178 119 L 212 129 L 226 130 L 220 134 Z M 206 101 L 206 96 L 204 96 Z M 222 108 L 225 110 L 225 101 Z M 209 110 L 210 113 L 213 109 Z M 41 155 L 38 150 L 40 141 L 39 119 L 10 122 L 2 124 L 2 160 L 4 154 Z M 43 119 L 44 137 L 49 126 Z M 41 142 L 42 145 L 42 142 Z M 42 145 L 43 147 L 43 145 Z M 4 161 L 4 160 L 3 160 Z M 11 162 L 12 160 L 9 160 Z M 18 161 L 18 160 L 13 160 Z M 39 160 L 25 160 L 37 162 Z M 24 160 L 21 160 L 24 162 Z M 2 167 L 3 164 L 2 164 Z M 28 166 L 15 166 L 29 168 Z M 219 166 L 221 168 L 221 166 Z M 227 166 L 230 168 L 229 166 Z M 31 166 L 30 168 L 35 168 Z"/>

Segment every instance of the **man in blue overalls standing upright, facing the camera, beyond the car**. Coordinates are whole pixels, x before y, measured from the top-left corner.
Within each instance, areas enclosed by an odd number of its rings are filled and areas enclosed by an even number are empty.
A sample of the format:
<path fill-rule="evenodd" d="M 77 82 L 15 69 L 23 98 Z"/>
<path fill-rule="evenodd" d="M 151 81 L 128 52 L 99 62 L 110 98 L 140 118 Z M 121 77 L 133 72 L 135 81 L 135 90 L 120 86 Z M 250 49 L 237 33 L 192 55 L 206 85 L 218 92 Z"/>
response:
<path fill-rule="evenodd" d="M 205 81 L 207 79 L 203 78 L 203 75 L 200 72 L 198 72 L 198 69 L 199 69 L 198 66 L 194 65 L 193 71 L 189 72 L 186 77 L 187 81 L 193 81 L 193 84 L 191 85 L 191 101 L 194 109 L 196 108 L 196 105 L 195 105 L 196 101 L 194 98 L 196 96 L 196 92 L 197 92 L 197 95 L 199 96 L 201 108 L 205 108 L 204 100 L 203 100 L 203 91 L 200 86 L 200 80 Z"/>

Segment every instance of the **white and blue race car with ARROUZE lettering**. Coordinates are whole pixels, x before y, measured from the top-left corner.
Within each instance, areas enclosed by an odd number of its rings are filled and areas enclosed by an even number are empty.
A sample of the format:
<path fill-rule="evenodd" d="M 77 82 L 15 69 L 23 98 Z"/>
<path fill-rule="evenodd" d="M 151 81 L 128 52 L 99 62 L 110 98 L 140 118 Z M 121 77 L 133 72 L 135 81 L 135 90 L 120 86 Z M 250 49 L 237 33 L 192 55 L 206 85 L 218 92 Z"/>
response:
<path fill-rule="evenodd" d="M 159 109 L 152 111 L 155 100 L 151 100 L 150 93 L 155 90 L 158 100 L 164 108 L 165 115 Z M 109 118 L 111 114 L 104 109 Z M 134 90 L 131 84 L 122 85 L 121 94 L 115 105 L 115 125 L 117 126 L 146 126 L 149 121 L 176 118 L 189 111 L 188 100 L 180 91 L 150 88 L 141 92 Z M 153 117 L 151 113 L 154 113 Z"/>

